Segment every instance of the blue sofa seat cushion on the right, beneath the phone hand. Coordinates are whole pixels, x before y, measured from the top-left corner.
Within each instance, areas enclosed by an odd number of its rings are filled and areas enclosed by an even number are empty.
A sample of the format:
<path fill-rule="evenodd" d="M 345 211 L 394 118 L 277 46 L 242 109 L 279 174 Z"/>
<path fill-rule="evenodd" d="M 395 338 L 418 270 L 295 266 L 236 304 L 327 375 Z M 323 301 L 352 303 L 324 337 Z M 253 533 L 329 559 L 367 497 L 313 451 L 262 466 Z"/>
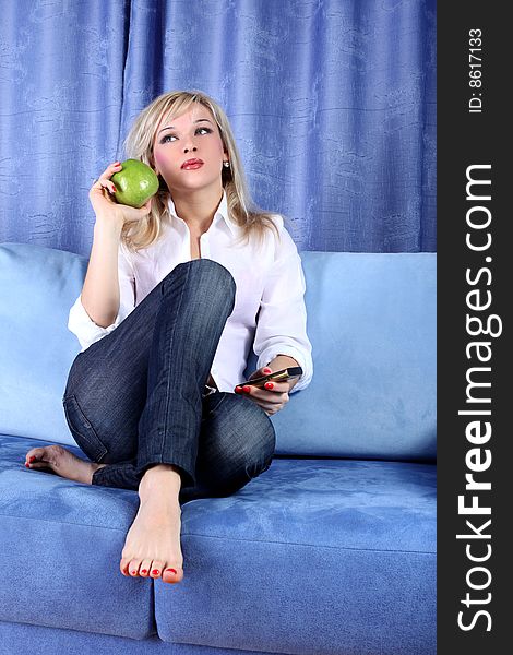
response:
<path fill-rule="evenodd" d="M 169 642 L 301 655 L 436 652 L 436 467 L 278 458 L 183 507 Z"/>

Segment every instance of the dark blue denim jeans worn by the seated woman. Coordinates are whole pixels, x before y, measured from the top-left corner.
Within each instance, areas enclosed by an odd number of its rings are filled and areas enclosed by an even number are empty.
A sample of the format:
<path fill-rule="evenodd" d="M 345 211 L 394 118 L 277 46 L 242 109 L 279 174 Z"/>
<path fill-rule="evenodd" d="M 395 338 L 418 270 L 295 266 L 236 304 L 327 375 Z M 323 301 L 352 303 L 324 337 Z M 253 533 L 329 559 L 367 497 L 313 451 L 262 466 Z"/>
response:
<path fill-rule="evenodd" d="M 76 443 L 105 463 L 93 485 L 138 489 L 176 466 L 180 501 L 229 496 L 271 466 L 273 425 L 235 393 L 205 395 L 236 285 L 206 259 L 176 266 L 116 330 L 80 353 L 63 405 Z"/>

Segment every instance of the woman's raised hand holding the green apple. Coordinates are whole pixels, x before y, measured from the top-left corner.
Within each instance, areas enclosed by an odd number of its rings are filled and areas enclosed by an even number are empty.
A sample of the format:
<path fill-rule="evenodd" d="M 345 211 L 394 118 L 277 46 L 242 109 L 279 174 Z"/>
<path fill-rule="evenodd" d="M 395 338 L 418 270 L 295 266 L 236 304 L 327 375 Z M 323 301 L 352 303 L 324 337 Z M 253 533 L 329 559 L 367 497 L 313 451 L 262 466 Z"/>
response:
<path fill-rule="evenodd" d="M 115 162 L 110 164 L 90 190 L 90 201 L 96 214 L 96 218 L 103 222 L 112 223 L 122 227 L 129 221 L 140 221 L 152 210 L 152 198 L 139 210 L 128 205 L 118 204 L 114 200 L 116 187 L 110 178 L 115 172 L 122 169 L 121 164 Z"/>

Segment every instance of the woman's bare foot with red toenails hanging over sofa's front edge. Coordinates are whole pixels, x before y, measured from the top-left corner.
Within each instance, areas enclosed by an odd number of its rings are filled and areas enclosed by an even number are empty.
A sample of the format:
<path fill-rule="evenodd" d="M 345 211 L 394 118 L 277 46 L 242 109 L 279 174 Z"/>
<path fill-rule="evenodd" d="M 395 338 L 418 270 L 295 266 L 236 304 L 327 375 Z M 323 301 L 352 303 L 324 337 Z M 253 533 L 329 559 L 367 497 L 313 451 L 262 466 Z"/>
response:
<path fill-rule="evenodd" d="M 177 469 L 165 464 L 152 466 L 144 474 L 139 486 L 138 515 L 121 553 L 119 568 L 123 575 L 162 577 L 171 584 L 183 579 L 180 484 Z"/>

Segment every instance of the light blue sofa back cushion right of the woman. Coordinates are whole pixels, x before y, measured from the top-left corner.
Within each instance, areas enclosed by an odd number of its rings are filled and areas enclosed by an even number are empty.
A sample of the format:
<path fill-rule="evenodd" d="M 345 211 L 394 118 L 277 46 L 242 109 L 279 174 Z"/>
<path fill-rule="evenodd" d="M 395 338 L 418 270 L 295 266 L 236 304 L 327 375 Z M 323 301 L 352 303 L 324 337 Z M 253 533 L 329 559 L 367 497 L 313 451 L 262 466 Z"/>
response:
<path fill-rule="evenodd" d="M 433 461 L 434 253 L 301 257 L 314 372 L 273 417 L 276 452 Z"/>

